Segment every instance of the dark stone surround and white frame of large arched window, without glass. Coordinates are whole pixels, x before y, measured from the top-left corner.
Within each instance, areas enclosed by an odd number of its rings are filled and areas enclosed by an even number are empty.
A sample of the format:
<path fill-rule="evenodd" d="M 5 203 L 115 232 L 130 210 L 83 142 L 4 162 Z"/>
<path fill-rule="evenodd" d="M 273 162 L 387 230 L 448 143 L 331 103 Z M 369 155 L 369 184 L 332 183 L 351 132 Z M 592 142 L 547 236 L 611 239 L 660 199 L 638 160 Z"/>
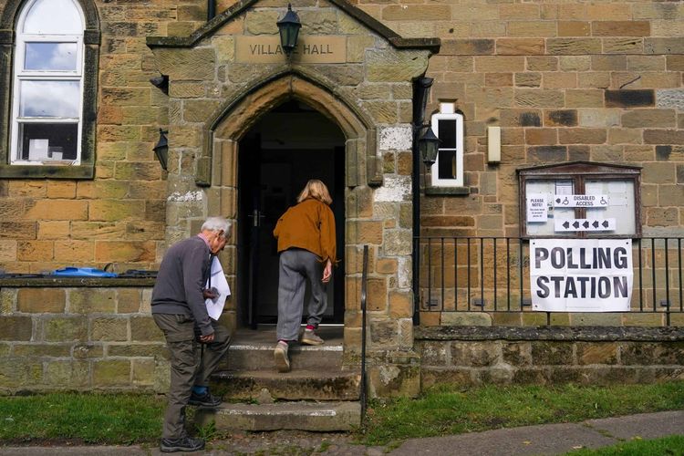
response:
<path fill-rule="evenodd" d="M 0 91 L 0 178 L 8 179 L 93 179 L 95 177 L 95 133 L 97 120 L 97 83 L 98 58 L 100 46 L 100 31 L 98 12 L 92 0 L 72 0 L 81 16 L 84 25 L 81 42 L 78 47 L 80 55 L 78 66 L 80 71 L 79 122 L 78 128 L 78 157 L 80 161 L 71 164 L 57 164 L 27 161 L 15 161 L 16 158 L 16 127 L 15 115 L 18 113 L 19 93 L 16 90 L 15 69 L 16 53 L 24 53 L 26 40 L 19 39 L 21 35 L 18 27 L 23 25 L 23 19 L 35 0 L 8 0 L 5 9 L 0 12 L 0 85 L 10 90 Z M 31 34 L 32 37 L 37 35 Z M 44 35 L 47 42 L 65 42 L 59 36 Z M 73 36 L 73 35 L 67 35 Z M 34 42 L 31 38 L 28 42 Z M 24 62 L 24 57 L 20 60 Z M 20 68 L 23 70 L 23 68 Z M 41 71 L 38 71 L 41 72 Z M 57 71 L 61 73 L 63 71 Z M 19 72 L 17 72 L 18 74 Z M 28 71 L 36 73 L 36 71 Z M 37 77 L 36 77 L 37 78 Z M 45 78 L 45 80 L 57 80 Z"/>

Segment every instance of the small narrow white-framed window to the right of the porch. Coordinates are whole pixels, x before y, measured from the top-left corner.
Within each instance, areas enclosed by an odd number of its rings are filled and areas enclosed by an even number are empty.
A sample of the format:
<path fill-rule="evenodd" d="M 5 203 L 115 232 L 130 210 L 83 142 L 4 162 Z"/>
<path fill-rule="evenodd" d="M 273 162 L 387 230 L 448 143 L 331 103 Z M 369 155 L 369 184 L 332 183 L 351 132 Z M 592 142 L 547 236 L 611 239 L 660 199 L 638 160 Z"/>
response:
<path fill-rule="evenodd" d="M 432 131 L 440 139 L 437 161 L 432 165 L 433 187 L 463 186 L 463 114 L 453 104 L 440 103 L 440 113 L 433 114 Z"/>

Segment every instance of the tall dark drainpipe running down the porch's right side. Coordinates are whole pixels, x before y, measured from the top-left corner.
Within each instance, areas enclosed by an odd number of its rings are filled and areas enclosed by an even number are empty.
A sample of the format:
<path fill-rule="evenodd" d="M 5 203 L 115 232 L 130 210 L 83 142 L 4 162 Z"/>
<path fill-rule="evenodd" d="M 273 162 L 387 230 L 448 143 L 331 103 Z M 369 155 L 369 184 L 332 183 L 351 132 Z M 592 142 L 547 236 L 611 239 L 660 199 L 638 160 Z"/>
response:
<path fill-rule="evenodd" d="M 420 262 L 420 167 L 422 158 L 418 149 L 418 139 L 425 124 L 425 108 L 430 98 L 430 88 L 433 78 L 418 78 L 413 81 L 413 176 L 411 179 L 411 191 L 413 195 L 413 325 L 420 324 L 420 284 L 418 280 Z"/>

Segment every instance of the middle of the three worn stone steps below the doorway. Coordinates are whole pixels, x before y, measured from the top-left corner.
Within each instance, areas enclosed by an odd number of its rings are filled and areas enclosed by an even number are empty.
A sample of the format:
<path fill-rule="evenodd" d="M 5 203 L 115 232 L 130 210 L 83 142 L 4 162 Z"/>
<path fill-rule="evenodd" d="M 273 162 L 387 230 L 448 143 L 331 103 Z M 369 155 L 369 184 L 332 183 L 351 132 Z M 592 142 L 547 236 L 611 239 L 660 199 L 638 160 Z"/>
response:
<path fill-rule="evenodd" d="M 212 376 L 212 390 L 223 399 L 358 400 L 360 385 L 360 372 L 339 368 L 286 373 L 224 370 Z"/>

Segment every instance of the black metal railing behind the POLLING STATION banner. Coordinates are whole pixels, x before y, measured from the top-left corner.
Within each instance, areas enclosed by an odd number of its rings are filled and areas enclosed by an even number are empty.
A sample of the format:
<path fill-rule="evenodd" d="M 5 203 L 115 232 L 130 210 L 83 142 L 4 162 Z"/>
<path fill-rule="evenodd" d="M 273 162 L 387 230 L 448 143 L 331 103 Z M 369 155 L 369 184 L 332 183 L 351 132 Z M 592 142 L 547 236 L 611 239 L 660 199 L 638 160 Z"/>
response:
<path fill-rule="evenodd" d="M 684 312 L 682 240 L 632 241 L 631 311 Z M 420 312 L 529 311 L 530 246 L 518 237 L 424 236 L 416 238 Z"/>

